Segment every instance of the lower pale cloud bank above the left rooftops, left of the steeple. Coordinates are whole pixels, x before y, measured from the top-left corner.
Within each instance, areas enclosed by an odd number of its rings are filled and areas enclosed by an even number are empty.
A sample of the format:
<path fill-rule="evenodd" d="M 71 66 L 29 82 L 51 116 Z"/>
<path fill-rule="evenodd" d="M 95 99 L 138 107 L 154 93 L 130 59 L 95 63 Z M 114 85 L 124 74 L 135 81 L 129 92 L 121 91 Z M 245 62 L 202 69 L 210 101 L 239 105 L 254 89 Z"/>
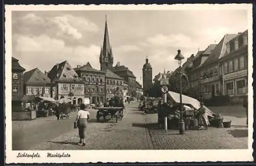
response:
<path fill-rule="evenodd" d="M 100 47 L 90 45 L 67 46 L 62 40 L 53 39 L 46 35 L 38 37 L 19 36 L 14 49 L 18 59 L 30 68 L 39 67 L 49 69 L 54 64 L 68 60 L 75 67 L 90 61 L 94 67 L 98 67 Z"/>

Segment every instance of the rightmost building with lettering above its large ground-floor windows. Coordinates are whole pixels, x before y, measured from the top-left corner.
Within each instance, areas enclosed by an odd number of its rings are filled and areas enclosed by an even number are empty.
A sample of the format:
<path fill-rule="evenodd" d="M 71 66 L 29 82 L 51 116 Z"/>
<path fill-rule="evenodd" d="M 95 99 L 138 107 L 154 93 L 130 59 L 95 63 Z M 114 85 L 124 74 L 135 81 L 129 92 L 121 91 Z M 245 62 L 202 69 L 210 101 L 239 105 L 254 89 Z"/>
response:
<path fill-rule="evenodd" d="M 226 43 L 220 59 L 222 67 L 222 93 L 243 98 L 248 89 L 248 30 Z"/>

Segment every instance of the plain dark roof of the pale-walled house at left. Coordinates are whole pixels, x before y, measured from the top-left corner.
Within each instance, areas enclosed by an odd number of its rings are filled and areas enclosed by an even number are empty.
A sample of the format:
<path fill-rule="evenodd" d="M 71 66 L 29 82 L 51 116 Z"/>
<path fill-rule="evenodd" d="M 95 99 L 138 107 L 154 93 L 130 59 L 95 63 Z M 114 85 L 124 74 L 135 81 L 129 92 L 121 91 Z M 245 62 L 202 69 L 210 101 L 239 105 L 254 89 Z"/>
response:
<path fill-rule="evenodd" d="M 24 84 L 50 84 L 51 80 L 38 68 L 24 73 Z"/>

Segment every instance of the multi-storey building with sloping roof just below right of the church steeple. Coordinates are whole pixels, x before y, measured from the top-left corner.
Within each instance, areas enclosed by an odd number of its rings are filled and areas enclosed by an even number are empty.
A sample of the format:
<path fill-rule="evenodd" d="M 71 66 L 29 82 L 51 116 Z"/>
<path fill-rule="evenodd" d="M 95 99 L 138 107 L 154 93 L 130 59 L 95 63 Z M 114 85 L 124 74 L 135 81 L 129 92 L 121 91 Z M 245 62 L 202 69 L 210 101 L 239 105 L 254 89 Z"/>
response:
<path fill-rule="evenodd" d="M 120 95 L 123 97 L 123 78 L 119 77 L 109 69 L 103 69 L 105 72 L 105 93 L 106 98 Z"/>

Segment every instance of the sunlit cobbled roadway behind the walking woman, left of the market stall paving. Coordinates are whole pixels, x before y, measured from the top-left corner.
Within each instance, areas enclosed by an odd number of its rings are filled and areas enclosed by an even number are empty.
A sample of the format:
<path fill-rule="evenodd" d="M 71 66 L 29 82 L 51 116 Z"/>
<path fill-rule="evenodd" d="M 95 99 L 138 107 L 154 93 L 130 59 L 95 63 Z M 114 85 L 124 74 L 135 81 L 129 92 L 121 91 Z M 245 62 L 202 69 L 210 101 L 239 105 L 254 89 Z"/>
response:
<path fill-rule="evenodd" d="M 136 107 L 134 106 L 136 105 Z M 87 129 L 85 147 L 77 145 L 77 129 L 60 135 L 50 142 L 42 142 L 35 150 L 133 150 L 152 149 L 150 137 L 144 124 L 142 112 L 137 110 L 137 103 L 127 105 L 124 117 L 118 123 L 114 120 L 105 123 L 90 123 Z"/>

